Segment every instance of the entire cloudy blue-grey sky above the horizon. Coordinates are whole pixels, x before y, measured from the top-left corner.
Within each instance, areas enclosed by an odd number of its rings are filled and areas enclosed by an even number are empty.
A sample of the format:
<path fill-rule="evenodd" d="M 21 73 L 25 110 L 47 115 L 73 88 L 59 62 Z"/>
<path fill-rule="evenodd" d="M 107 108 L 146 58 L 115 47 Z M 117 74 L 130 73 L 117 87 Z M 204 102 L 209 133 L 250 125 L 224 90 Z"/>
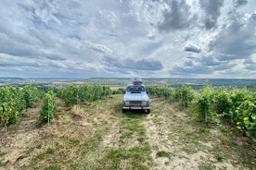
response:
<path fill-rule="evenodd" d="M 0 77 L 256 79 L 255 0 L 0 0 Z"/>

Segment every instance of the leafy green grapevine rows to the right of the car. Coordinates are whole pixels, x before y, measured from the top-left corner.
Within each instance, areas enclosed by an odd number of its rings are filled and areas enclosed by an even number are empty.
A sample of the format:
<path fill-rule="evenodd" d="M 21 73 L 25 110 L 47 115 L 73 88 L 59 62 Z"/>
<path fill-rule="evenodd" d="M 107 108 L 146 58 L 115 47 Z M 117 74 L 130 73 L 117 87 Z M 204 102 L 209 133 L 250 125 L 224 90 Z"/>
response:
<path fill-rule="evenodd" d="M 161 97 L 170 102 L 178 102 L 183 107 L 189 104 L 205 122 L 218 121 L 224 117 L 234 123 L 241 132 L 256 138 L 256 93 L 247 90 L 225 88 L 213 89 L 211 86 L 194 91 L 190 87 L 147 87 L 151 96 Z"/>

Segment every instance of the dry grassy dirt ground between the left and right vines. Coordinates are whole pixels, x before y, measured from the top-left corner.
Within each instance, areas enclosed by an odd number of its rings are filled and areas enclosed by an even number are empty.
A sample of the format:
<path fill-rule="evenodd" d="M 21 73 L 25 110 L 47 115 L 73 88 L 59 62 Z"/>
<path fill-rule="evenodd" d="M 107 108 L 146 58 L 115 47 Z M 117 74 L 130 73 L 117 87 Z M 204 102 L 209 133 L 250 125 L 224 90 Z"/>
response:
<path fill-rule="evenodd" d="M 122 114 L 122 95 L 67 106 L 50 126 L 42 101 L 0 131 L 0 169 L 255 169 L 256 142 L 177 103 L 151 98 L 149 115 Z"/>

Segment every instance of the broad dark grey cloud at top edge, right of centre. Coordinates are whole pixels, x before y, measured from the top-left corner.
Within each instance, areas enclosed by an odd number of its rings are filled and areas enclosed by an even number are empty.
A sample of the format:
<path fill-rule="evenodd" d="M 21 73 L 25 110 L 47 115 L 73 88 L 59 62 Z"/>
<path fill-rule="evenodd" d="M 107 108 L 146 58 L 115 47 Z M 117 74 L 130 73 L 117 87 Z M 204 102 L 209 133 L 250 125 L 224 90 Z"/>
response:
<path fill-rule="evenodd" d="M 170 9 L 165 9 L 162 12 L 163 21 L 159 23 L 158 29 L 163 32 L 170 32 L 188 28 L 192 18 L 186 0 L 173 0 L 168 5 Z"/>

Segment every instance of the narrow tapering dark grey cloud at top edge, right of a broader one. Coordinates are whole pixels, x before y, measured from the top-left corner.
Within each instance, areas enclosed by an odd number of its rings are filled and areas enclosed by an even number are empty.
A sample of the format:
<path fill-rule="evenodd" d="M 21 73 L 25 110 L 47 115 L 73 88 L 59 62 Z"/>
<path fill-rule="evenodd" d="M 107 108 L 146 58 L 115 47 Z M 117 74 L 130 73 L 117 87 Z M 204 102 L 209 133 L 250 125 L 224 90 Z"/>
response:
<path fill-rule="evenodd" d="M 224 0 L 200 0 L 199 4 L 205 12 L 203 18 L 204 26 L 207 30 L 211 30 L 217 26 L 217 19 L 221 15 L 221 7 Z"/>

